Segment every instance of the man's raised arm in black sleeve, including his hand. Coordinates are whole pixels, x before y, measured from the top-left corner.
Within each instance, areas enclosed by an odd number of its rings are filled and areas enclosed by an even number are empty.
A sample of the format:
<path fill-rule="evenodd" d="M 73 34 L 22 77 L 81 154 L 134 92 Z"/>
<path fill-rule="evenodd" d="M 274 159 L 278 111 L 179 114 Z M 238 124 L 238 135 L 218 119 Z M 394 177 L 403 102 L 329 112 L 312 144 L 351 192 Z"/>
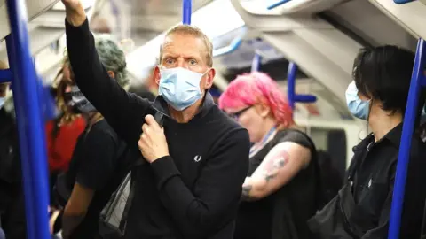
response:
<path fill-rule="evenodd" d="M 67 54 L 74 81 L 115 132 L 136 146 L 150 103 L 126 92 L 106 72 L 80 0 L 62 0 L 62 3 L 67 12 Z"/>

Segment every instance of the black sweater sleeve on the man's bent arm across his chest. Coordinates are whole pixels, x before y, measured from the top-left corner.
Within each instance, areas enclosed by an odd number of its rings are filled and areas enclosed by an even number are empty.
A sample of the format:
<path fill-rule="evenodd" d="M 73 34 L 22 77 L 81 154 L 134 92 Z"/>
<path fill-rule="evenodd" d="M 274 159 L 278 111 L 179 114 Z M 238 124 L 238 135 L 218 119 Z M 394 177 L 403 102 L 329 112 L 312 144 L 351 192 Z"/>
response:
<path fill-rule="evenodd" d="M 170 156 L 153 162 L 162 204 L 185 235 L 208 235 L 233 220 L 248 172 L 249 147 L 246 130 L 230 133 L 207 158 L 193 190 L 185 186 Z"/>

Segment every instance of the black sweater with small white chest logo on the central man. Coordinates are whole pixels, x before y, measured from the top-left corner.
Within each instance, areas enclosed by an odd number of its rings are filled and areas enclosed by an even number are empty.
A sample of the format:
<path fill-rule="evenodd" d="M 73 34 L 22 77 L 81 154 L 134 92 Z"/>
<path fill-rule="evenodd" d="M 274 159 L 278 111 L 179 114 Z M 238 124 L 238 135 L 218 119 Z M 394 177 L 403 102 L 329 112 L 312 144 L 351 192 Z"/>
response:
<path fill-rule="evenodd" d="M 147 114 L 161 112 L 170 156 L 134 169 L 135 194 L 125 238 L 231 239 L 248 172 L 247 130 L 206 94 L 188 123 L 170 118 L 168 105 L 127 93 L 99 62 L 88 22 L 66 23 L 67 49 L 84 96 L 135 151 Z"/>

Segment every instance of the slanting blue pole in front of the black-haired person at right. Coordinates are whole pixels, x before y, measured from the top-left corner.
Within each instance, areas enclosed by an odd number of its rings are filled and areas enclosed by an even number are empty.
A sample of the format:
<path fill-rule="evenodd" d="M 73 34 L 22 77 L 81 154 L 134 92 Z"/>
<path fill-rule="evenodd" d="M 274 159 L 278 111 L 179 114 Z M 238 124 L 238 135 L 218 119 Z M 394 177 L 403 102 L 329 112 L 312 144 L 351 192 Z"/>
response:
<path fill-rule="evenodd" d="M 414 59 L 413 75 L 406 101 L 406 115 L 402 126 L 401 143 L 399 145 L 397 173 L 393 188 L 393 199 L 390 211 L 389 239 L 399 238 L 402 206 L 406 187 L 406 171 L 409 163 L 411 138 L 414 132 L 414 122 L 419 103 L 420 90 L 422 88 L 423 70 L 426 66 L 426 43 L 420 39 Z"/>

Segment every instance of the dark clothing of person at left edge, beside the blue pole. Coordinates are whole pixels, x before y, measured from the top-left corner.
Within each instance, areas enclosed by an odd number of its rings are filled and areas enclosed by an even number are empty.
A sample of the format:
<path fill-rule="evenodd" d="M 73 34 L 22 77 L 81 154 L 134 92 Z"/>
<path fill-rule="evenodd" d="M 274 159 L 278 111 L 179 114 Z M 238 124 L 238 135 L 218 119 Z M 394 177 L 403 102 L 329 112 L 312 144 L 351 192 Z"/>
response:
<path fill-rule="evenodd" d="M 0 218 L 8 239 L 27 237 L 18 132 L 12 115 L 0 110 Z"/>

